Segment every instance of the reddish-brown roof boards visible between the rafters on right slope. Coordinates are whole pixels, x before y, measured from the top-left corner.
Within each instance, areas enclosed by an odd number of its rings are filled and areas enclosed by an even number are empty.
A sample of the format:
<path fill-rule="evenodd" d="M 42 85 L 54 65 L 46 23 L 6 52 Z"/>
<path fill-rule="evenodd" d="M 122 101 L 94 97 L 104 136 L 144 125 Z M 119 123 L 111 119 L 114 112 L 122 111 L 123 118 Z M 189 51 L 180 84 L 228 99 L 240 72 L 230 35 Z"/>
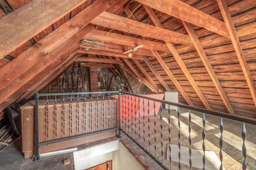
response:
<path fill-rule="evenodd" d="M 182 1 L 188 4 L 190 3 L 194 8 L 213 16 L 214 18 L 222 20 L 222 15 L 215 0 Z M 226 2 L 228 4 L 236 32 L 240 39 L 248 67 L 250 68 L 250 73 L 252 74 L 254 84 L 256 84 L 256 2 L 251 1 L 251 3 L 249 3 L 248 1 L 244 2 L 239 0 L 226 0 Z M 138 6 L 138 3 L 131 3 L 129 8 L 132 10 L 136 8 L 136 6 Z M 180 20 L 163 14 L 162 12 L 154 12 L 165 29 L 186 34 L 186 29 L 183 27 Z M 123 16 L 125 17 L 126 15 L 124 14 Z M 140 10 L 134 13 L 134 16 L 144 23 L 152 24 L 152 21 L 147 16 L 144 8 L 140 8 Z M 238 115 L 256 118 L 256 107 L 252 100 L 250 90 L 248 89 L 246 79 L 230 39 L 216 33 L 212 33 L 204 28 L 195 25 L 192 26 L 235 113 Z M 137 35 L 133 36 L 136 37 Z M 162 43 L 162 41 L 159 40 L 158 42 Z M 212 109 L 228 113 L 217 89 L 215 88 L 208 72 L 206 71 L 206 68 L 204 67 L 204 64 L 196 52 L 196 49 L 194 47 L 178 44 L 176 44 L 175 47 Z M 204 108 L 200 98 L 192 88 L 191 84 L 188 82 L 174 57 L 172 57 L 172 54 L 166 52 L 159 53 L 195 106 Z M 168 84 L 170 89 L 176 91 L 177 88 L 174 86 L 166 72 L 164 72 L 156 58 L 148 57 L 148 59 Z M 136 64 L 132 60 L 129 61 L 132 63 L 134 68 L 142 74 Z M 151 72 L 150 68 L 148 68 L 147 64 L 144 63 L 144 61 L 140 61 L 140 64 L 144 67 L 148 74 L 152 76 L 159 88 L 164 90 L 158 79 Z M 186 104 L 186 101 L 180 95 L 180 93 L 179 101 Z"/>

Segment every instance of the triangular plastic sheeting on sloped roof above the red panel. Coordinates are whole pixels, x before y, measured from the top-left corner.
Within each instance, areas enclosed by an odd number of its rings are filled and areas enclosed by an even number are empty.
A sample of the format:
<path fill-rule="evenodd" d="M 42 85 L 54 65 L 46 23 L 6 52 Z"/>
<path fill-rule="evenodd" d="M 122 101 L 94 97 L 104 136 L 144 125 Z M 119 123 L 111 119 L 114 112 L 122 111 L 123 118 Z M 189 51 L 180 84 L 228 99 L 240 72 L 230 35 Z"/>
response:
<path fill-rule="evenodd" d="M 126 69 L 122 68 L 124 72 L 124 76 L 134 92 L 134 94 L 154 94 L 154 90 L 152 90 L 149 86 L 144 84 L 141 80 L 134 77 L 130 74 Z"/>

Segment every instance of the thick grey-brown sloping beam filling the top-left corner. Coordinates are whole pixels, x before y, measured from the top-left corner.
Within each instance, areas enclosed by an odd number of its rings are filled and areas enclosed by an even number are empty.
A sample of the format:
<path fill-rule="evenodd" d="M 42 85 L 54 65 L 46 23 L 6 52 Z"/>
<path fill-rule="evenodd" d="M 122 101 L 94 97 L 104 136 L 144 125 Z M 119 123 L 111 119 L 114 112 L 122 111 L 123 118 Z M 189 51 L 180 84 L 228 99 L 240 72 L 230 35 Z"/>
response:
<path fill-rule="evenodd" d="M 84 2 L 86 0 L 33 0 L 1 18 L 0 59 Z"/>

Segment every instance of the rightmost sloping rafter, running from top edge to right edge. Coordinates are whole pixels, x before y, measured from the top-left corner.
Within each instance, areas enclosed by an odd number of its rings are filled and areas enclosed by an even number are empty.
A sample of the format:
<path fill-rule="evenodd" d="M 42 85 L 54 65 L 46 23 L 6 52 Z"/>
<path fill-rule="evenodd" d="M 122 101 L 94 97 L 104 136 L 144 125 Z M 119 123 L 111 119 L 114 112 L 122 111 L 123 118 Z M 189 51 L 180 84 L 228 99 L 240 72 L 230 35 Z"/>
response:
<path fill-rule="evenodd" d="M 217 0 L 217 3 L 218 3 L 218 6 L 220 8 L 220 12 L 222 14 L 223 20 L 226 23 L 226 27 L 228 29 L 230 39 L 231 39 L 232 44 L 234 46 L 238 61 L 239 61 L 240 65 L 241 65 L 241 68 L 242 68 L 242 71 L 244 72 L 246 82 L 248 84 L 248 87 L 249 87 L 251 95 L 252 95 L 252 99 L 253 99 L 254 104 L 256 106 L 256 87 L 254 85 L 252 75 L 250 74 L 250 69 L 248 67 L 248 64 L 246 63 L 246 58 L 244 56 L 244 52 L 242 50 L 238 35 L 236 33 L 236 29 L 235 29 L 234 24 L 232 22 L 232 18 L 230 16 L 228 6 L 227 6 L 225 0 Z"/>

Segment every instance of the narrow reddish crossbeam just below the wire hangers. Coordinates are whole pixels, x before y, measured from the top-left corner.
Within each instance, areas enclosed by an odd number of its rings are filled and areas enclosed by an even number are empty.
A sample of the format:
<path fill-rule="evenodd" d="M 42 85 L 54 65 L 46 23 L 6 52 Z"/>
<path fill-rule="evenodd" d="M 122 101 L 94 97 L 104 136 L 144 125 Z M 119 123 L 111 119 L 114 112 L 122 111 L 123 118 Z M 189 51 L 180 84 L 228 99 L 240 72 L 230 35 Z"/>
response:
<path fill-rule="evenodd" d="M 103 51 L 103 50 L 96 50 L 96 49 L 89 49 L 86 51 L 85 49 L 80 49 L 78 53 L 83 53 L 83 54 L 95 54 L 95 55 L 107 55 L 111 57 L 120 57 L 120 58 L 130 58 L 128 57 L 128 54 L 123 54 L 123 53 L 116 53 L 116 52 L 111 52 L 111 51 Z M 133 59 L 136 60 L 141 60 L 142 58 L 139 55 L 132 55 Z"/>

